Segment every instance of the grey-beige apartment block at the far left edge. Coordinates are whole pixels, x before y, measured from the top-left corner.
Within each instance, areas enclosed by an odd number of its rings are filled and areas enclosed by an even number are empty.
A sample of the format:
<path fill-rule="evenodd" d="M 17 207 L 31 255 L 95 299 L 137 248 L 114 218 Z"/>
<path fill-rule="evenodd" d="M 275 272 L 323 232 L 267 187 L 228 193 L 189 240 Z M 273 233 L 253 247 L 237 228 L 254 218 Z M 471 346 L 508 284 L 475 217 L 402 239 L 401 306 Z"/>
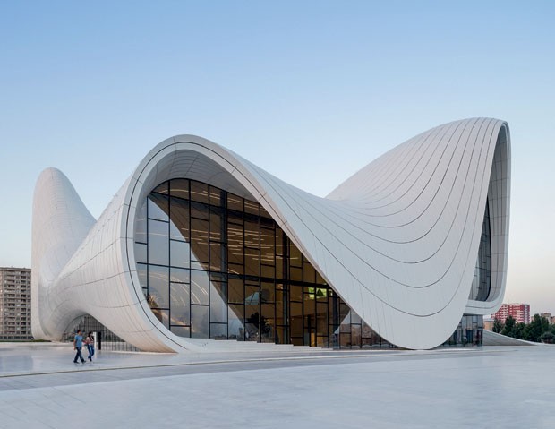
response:
<path fill-rule="evenodd" d="M 32 339 L 29 268 L 0 267 L 0 339 Z"/>

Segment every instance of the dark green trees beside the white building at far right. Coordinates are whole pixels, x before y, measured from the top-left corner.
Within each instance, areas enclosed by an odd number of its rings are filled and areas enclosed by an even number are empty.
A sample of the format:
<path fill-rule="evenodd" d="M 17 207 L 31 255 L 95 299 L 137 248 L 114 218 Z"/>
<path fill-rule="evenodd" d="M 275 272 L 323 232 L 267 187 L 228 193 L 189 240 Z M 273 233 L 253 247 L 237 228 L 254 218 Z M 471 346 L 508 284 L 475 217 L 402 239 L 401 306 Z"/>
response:
<path fill-rule="evenodd" d="M 547 318 L 540 314 L 534 314 L 530 323 L 517 322 L 513 316 L 508 316 L 505 322 L 495 319 L 491 330 L 514 339 L 525 339 L 526 341 L 547 344 L 555 342 L 555 324 L 550 323 Z"/>

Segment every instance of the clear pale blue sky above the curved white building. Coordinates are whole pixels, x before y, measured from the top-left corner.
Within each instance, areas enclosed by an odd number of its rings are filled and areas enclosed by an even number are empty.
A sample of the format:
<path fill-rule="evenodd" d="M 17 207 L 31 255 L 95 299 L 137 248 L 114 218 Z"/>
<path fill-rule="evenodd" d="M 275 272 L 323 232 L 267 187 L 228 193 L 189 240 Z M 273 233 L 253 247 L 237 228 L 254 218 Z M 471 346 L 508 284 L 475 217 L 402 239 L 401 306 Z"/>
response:
<path fill-rule="evenodd" d="M 45 167 L 98 217 L 176 133 L 325 195 L 432 126 L 508 121 L 506 299 L 555 313 L 555 2 L 1 2 L 0 265 Z"/>

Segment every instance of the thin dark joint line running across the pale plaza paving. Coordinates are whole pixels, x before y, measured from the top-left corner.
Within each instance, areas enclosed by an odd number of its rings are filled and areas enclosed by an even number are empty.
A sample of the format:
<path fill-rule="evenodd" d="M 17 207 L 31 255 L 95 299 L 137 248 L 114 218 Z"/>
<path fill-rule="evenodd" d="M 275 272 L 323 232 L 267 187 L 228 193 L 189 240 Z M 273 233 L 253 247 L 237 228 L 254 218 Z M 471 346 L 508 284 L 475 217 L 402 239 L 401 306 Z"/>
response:
<path fill-rule="evenodd" d="M 376 350 L 377 351 L 377 350 Z M 447 350 L 446 350 L 447 351 Z M 378 356 L 450 356 L 451 354 L 461 354 L 467 352 L 479 352 L 482 353 L 499 353 L 500 350 L 473 350 L 473 349 L 466 349 L 466 350 L 450 350 L 447 354 L 444 351 L 437 351 L 431 353 L 423 353 L 421 350 L 415 350 L 410 353 L 380 353 L 379 355 L 370 355 L 370 354 L 356 354 L 356 355 L 335 355 L 335 356 L 275 356 L 275 357 L 254 357 L 254 358 L 246 358 L 246 359 L 226 359 L 226 360 L 217 360 L 217 361 L 205 361 L 205 362 L 182 362 L 182 363 L 175 363 L 175 364 L 162 364 L 162 365 L 137 365 L 137 366 L 112 366 L 107 368 L 90 368 L 84 367 L 81 370 L 78 369 L 71 369 L 71 370 L 59 370 L 59 371 L 45 371 L 45 372 L 33 372 L 33 373 L 9 373 L 9 374 L 0 374 L 0 379 L 8 379 L 8 378 L 17 378 L 17 377 L 29 377 L 33 375 L 53 375 L 58 373 L 93 373 L 99 371 L 118 371 L 118 370 L 133 370 L 133 369 L 147 369 L 147 368 L 171 368 L 177 366 L 192 366 L 192 365 L 221 365 L 221 364 L 239 364 L 245 362 L 274 362 L 274 361 L 295 361 L 295 360 L 317 360 L 317 359 L 355 359 L 355 358 L 363 358 L 363 357 L 378 357 Z M 426 351 L 424 351 L 426 352 Z"/>

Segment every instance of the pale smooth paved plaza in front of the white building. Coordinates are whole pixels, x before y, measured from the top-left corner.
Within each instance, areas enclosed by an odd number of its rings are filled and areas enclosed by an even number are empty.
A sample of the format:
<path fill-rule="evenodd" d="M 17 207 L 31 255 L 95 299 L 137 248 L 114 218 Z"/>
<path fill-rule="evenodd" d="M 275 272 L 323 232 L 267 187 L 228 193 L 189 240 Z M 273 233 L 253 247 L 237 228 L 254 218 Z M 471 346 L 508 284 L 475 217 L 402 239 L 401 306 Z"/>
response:
<path fill-rule="evenodd" d="M 555 427 L 555 347 L 184 356 L 0 345 L 0 428 Z"/>

